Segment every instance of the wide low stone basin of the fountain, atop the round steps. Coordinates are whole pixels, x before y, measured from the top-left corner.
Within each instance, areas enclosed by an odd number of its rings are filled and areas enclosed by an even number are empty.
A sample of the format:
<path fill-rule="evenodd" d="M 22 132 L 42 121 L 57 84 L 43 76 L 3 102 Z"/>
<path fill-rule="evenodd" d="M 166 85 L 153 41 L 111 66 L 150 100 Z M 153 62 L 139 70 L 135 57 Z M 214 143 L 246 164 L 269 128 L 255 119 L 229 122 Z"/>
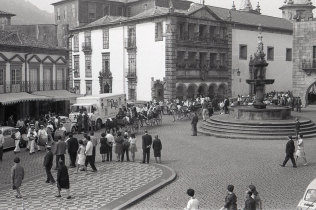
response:
<path fill-rule="evenodd" d="M 288 120 L 291 118 L 291 107 L 268 105 L 266 109 L 253 106 L 235 106 L 230 108 L 231 115 L 239 120 Z"/>

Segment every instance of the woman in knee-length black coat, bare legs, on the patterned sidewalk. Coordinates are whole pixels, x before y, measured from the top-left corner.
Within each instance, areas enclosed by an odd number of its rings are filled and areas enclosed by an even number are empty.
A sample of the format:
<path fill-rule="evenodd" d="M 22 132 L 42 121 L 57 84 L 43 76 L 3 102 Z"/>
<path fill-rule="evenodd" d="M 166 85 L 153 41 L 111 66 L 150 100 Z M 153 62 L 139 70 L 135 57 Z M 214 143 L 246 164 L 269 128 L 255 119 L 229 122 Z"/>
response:
<path fill-rule="evenodd" d="M 59 160 L 58 162 L 59 168 L 57 172 L 57 190 L 58 194 L 55 196 L 56 198 L 60 198 L 61 194 L 60 191 L 61 189 L 66 189 L 67 190 L 67 199 L 71 199 L 70 196 L 70 184 L 69 184 L 69 174 L 68 174 L 68 168 L 65 166 L 64 161 Z"/>

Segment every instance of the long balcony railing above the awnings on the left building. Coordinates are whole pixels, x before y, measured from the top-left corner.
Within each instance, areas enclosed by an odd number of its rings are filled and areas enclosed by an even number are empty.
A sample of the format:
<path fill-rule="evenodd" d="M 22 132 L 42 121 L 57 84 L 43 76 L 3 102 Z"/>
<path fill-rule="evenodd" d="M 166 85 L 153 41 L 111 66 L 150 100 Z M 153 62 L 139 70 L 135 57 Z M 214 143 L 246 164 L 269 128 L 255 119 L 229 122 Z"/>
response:
<path fill-rule="evenodd" d="M 43 81 L 43 82 L 17 82 L 12 84 L 10 82 L 4 82 L 0 84 L 0 93 L 19 93 L 19 92 L 35 92 L 46 90 L 68 90 L 69 81 L 57 80 L 57 81 Z"/>

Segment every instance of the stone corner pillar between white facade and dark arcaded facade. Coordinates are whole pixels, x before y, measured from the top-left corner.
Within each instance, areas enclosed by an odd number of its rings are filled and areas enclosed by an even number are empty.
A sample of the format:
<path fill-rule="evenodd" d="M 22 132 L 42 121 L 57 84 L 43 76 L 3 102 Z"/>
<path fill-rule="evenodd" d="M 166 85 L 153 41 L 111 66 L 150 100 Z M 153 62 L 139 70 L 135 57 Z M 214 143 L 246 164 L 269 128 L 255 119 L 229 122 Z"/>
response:
<path fill-rule="evenodd" d="M 174 99 L 176 97 L 176 39 L 177 39 L 176 19 L 169 17 L 166 31 L 166 89 L 165 99 Z"/>

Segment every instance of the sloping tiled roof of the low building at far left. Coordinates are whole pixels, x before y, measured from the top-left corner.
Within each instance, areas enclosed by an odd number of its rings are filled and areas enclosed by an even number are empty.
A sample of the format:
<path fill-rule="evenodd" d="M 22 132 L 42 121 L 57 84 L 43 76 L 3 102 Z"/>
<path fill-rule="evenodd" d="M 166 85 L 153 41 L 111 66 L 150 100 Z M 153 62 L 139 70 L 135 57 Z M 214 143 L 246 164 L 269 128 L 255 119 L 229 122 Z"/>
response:
<path fill-rule="evenodd" d="M 65 50 L 65 48 L 60 48 L 47 42 L 38 41 L 17 31 L 0 30 L 0 45 Z"/>

